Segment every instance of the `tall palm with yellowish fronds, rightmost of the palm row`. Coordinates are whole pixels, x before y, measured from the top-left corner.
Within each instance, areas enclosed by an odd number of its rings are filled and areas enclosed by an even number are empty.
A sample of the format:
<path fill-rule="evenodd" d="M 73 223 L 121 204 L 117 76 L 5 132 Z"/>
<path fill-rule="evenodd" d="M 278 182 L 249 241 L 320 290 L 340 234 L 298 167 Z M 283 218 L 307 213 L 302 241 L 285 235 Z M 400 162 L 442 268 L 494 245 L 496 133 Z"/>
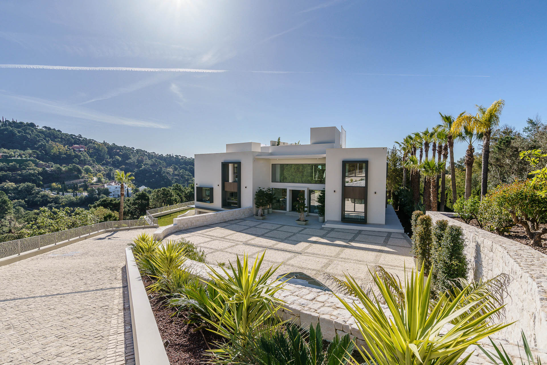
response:
<path fill-rule="evenodd" d="M 488 188 L 488 160 L 490 159 L 490 137 L 492 132 L 499 125 L 499 115 L 502 113 L 505 101 L 499 99 L 494 101 L 488 108 L 482 105 L 475 105 L 476 115 L 465 113 L 455 121 L 456 128 L 461 129 L 462 125 L 467 125 L 469 129 L 482 135 L 482 169 L 481 169 L 481 197 L 486 195 Z"/>

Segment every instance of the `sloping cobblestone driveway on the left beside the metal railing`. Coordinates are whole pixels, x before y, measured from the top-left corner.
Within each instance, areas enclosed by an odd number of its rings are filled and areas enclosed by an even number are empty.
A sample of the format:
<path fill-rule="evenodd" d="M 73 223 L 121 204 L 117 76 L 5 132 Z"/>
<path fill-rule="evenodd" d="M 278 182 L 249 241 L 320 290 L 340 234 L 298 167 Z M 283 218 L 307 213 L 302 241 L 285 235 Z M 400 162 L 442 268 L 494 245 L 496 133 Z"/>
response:
<path fill-rule="evenodd" d="M 142 231 L 0 266 L 0 364 L 135 363 L 125 246 Z"/>

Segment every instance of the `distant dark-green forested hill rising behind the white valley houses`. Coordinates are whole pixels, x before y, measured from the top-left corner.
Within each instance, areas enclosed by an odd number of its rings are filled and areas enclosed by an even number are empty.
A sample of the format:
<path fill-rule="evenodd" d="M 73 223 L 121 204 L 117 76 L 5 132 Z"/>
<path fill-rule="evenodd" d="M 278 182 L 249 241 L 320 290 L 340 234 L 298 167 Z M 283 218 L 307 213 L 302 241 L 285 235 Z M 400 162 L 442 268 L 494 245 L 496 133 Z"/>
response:
<path fill-rule="evenodd" d="M 72 150 L 70 147 L 75 144 L 85 146 L 85 151 Z M 0 124 L 0 153 L 36 159 L 49 165 L 48 169 L 36 169 L 36 164 L 23 169 L 2 166 L 0 183 L 30 182 L 41 187 L 77 178 L 75 176 L 81 176 L 80 170 L 85 166 L 90 166 L 94 175 L 101 173 L 106 179 L 111 179 L 117 169 L 131 171 L 137 186 L 150 188 L 168 187 L 174 183 L 187 185 L 193 182 L 194 176 L 193 158 L 98 142 L 48 126 L 9 120 Z"/>

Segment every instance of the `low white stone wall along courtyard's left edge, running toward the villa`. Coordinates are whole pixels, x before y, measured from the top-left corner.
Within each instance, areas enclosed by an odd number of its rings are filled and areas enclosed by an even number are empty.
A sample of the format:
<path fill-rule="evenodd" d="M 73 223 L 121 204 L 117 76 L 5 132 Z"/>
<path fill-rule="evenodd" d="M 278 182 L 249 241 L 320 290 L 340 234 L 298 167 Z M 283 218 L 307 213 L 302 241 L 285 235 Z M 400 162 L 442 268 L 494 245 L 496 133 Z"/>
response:
<path fill-rule="evenodd" d="M 214 224 L 232 221 L 233 219 L 241 219 L 251 217 L 253 215 L 252 207 L 237 208 L 230 210 L 223 210 L 214 213 L 205 213 L 193 215 L 190 217 L 174 218 L 173 224 L 160 227 L 154 232 L 154 238 L 156 240 L 162 240 L 165 236 L 170 235 L 176 231 L 201 227 L 203 225 Z"/>

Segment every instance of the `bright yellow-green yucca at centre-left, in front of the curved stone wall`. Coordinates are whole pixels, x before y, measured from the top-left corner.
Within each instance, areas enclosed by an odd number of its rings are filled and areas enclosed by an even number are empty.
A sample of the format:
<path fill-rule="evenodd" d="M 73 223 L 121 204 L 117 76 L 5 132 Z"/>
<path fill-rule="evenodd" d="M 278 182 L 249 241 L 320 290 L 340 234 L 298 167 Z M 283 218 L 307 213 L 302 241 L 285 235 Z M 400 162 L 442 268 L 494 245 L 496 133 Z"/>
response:
<path fill-rule="evenodd" d="M 222 306 L 219 302 L 210 302 L 215 320 L 203 318 L 216 326 L 213 332 L 225 338 L 231 338 L 231 334 L 244 336 L 254 333 L 270 318 L 277 317 L 283 302 L 275 298 L 274 294 L 282 289 L 284 282 L 268 283 L 279 265 L 270 266 L 263 274 L 259 274 L 265 253 L 262 256 L 257 254 L 252 266 L 249 266 L 247 254 L 243 256 L 243 262 L 237 256 L 235 266 L 230 262 L 229 270 L 221 267 L 222 272 L 219 272 L 207 266 L 211 281 L 206 283 L 218 291 L 224 303 Z"/>

